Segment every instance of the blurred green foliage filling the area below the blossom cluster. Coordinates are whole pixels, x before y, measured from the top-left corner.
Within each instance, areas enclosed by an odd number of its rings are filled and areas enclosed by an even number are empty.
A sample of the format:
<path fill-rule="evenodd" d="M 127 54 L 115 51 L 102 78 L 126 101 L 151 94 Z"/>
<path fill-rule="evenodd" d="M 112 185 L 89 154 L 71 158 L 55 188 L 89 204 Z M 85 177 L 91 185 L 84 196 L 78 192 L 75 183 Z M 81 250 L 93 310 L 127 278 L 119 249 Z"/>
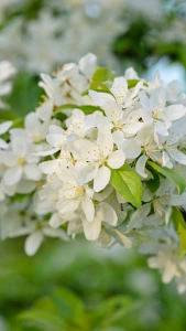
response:
<path fill-rule="evenodd" d="M 0 247 L 0 317 L 8 331 L 185 330 L 185 297 L 132 252 L 106 255 L 84 242 L 53 241 L 30 258 L 22 245 Z"/>

